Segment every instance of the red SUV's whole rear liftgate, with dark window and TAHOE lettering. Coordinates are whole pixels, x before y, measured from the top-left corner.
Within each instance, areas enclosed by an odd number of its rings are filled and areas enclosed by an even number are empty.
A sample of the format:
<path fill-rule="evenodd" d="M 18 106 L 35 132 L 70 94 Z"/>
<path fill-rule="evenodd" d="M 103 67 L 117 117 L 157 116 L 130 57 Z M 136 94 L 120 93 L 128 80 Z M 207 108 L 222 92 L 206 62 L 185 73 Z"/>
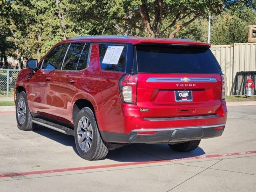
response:
<path fill-rule="evenodd" d="M 137 45 L 136 55 L 142 118 L 218 113 L 221 70 L 208 47 Z"/>

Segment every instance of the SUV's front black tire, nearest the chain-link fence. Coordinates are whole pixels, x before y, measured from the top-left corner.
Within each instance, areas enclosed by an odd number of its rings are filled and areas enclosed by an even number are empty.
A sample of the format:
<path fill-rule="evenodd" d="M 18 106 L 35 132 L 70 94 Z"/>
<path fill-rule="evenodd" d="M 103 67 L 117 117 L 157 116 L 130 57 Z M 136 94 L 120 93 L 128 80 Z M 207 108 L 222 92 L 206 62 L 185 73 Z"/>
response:
<path fill-rule="evenodd" d="M 24 105 L 25 105 L 25 112 L 24 112 L 24 117 L 25 117 L 25 120 L 23 123 L 20 123 L 19 120 L 18 120 L 18 109 L 21 109 L 19 108 L 19 101 L 20 100 L 23 100 L 24 101 Z M 31 131 L 33 130 L 34 128 L 36 128 L 37 124 L 33 123 L 32 122 L 32 116 L 30 114 L 30 110 L 28 108 L 28 100 L 27 100 L 27 96 L 26 96 L 26 93 L 24 91 L 20 92 L 17 96 L 17 99 L 16 99 L 16 102 L 15 102 L 15 108 L 16 108 L 16 121 L 17 121 L 17 125 L 18 125 L 18 128 L 20 130 L 23 130 L 23 131 Z M 23 110 L 24 111 L 24 110 Z"/>

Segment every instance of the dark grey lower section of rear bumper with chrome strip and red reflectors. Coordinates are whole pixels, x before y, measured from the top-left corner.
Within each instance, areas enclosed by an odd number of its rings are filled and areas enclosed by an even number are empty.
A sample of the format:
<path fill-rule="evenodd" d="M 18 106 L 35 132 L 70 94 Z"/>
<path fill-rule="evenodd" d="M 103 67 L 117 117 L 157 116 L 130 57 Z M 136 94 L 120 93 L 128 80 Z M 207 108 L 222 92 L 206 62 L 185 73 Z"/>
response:
<path fill-rule="evenodd" d="M 135 129 L 130 134 L 102 131 L 101 134 L 106 142 L 176 143 L 218 137 L 222 135 L 224 127 L 225 124 L 216 124 L 211 126 Z"/>

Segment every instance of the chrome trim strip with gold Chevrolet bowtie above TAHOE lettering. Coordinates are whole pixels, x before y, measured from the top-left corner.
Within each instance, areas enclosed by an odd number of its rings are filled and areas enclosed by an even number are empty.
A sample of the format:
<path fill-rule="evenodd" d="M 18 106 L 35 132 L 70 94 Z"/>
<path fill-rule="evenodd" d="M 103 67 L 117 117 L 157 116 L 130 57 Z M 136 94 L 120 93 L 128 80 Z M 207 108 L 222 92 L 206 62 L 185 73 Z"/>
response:
<path fill-rule="evenodd" d="M 213 77 L 149 77 L 146 82 L 217 82 Z"/>

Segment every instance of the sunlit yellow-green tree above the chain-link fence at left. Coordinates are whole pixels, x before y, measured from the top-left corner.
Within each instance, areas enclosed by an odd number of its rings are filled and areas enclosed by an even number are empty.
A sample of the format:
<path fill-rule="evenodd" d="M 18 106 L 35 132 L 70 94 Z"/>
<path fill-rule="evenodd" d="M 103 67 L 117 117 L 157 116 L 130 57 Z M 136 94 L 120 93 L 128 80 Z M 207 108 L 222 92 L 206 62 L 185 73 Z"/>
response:
<path fill-rule="evenodd" d="M 8 18 L 4 26 L 8 28 L 9 56 L 22 62 L 28 58 L 42 58 L 57 42 L 67 36 L 76 36 L 76 25 L 66 17 L 71 6 L 68 0 L 1 0 L 8 5 Z M 3 10 L 7 10 L 3 8 Z M 3 15 L 3 14 L 2 14 Z M 1 22 L 3 23 L 3 22 Z M 2 28 L 4 29 L 4 28 Z M 3 36 L 1 36 L 2 38 Z"/>

